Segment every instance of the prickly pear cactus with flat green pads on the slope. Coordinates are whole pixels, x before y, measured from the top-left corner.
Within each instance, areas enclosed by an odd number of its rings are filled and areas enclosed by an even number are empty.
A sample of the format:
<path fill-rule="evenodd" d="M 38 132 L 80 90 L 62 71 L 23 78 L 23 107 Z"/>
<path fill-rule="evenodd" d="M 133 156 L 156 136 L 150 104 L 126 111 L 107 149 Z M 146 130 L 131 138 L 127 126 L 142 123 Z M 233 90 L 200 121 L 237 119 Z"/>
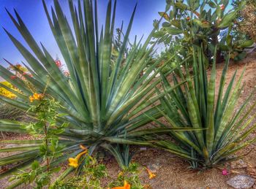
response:
<path fill-rule="evenodd" d="M 188 0 L 183 1 L 167 0 L 165 12 L 159 12 L 165 22 L 162 23 L 162 28 L 154 34 L 154 37 L 159 39 L 159 42 L 165 42 L 169 45 L 173 41 L 173 36 L 178 36 L 181 39 L 181 47 L 184 49 L 181 54 L 193 53 L 193 45 L 197 47 L 203 46 L 203 58 L 206 58 L 206 65 L 211 62 L 214 55 L 214 48 L 219 45 L 217 50 L 217 62 L 222 61 L 222 52 L 233 50 L 234 55 L 240 55 L 244 52 L 244 45 L 249 42 L 239 41 L 234 45 L 230 45 L 230 37 L 219 40 L 220 33 L 227 28 L 232 28 L 236 19 L 236 11 L 225 12 L 229 3 L 228 0 L 222 1 L 199 1 Z M 208 8 L 210 7 L 210 8 Z M 239 6 L 239 9 L 243 4 Z M 243 44 L 243 45 L 240 45 Z M 240 45 L 240 46 L 239 46 Z M 238 49 L 238 47 L 241 47 Z M 248 47 L 246 45 L 245 47 Z M 186 55 L 185 55 L 186 57 Z M 241 58 L 241 55 L 240 55 Z"/>

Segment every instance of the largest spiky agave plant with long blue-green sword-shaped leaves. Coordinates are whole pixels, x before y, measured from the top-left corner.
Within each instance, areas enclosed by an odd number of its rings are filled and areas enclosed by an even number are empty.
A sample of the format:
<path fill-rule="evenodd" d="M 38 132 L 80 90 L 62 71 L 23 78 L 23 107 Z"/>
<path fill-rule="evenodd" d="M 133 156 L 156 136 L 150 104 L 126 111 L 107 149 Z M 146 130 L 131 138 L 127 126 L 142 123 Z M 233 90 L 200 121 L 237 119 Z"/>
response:
<path fill-rule="evenodd" d="M 24 75 L 24 80 L 20 78 L 12 79 L 12 72 L 0 66 L 1 77 L 12 83 L 19 92 L 7 88 L 17 96 L 16 99 L 8 99 L 4 96 L 0 100 L 11 104 L 14 107 L 27 111 L 30 107 L 29 96 L 33 93 L 45 93 L 61 103 L 60 113 L 65 116 L 59 119 L 59 125 L 64 122 L 69 123 L 66 130 L 59 135 L 59 143 L 65 144 L 61 151 L 63 155 L 52 161 L 50 166 L 58 166 L 59 163 L 67 161 L 69 157 L 74 157 L 81 152 L 79 144 L 89 147 L 90 152 L 98 148 L 109 150 L 113 153 L 121 166 L 127 164 L 129 157 L 127 150 L 125 155 L 120 154 L 118 145 L 121 144 L 142 144 L 150 145 L 143 136 L 152 133 L 170 132 L 175 128 L 147 128 L 141 126 L 151 121 L 147 115 L 158 118 L 161 117 L 159 109 L 161 107 L 151 107 L 151 101 L 157 101 L 164 93 L 156 94 L 154 88 L 160 82 L 160 78 L 155 78 L 159 71 L 155 70 L 161 60 L 157 60 L 151 66 L 147 66 L 154 53 L 154 45 L 148 47 L 153 30 L 144 44 L 135 42 L 129 47 L 129 53 L 125 53 L 129 32 L 132 28 L 132 20 L 135 16 L 135 9 L 129 21 L 126 34 L 121 44 L 120 50 L 113 58 L 113 30 L 115 27 L 116 1 L 114 4 L 109 1 L 105 28 L 98 31 L 97 23 L 97 1 L 84 0 L 83 4 L 78 1 L 74 6 L 73 1 L 69 1 L 69 11 L 72 16 L 72 28 L 61 9 L 59 1 L 54 1 L 51 9 L 51 17 L 42 1 L 48 22 L 53 36 L 56 39 L 64 61 L 67 64 L 69 77 L 65 77 L 56 65 L 48 50 L 37 42 L 29 33 L 23 20 L 15 11 L 17 20 L 10 15 L 12 22 L 20 31 L 20 34 L 29 45 L 30 50 L 24 47 L 15 36 L 6 31 L 14 45 L 29 64 L 24 64 L 33 77 Z M 113 6 L 112 6 L 113 4 Z M 113 9 L 113 10 L 112 10 Z M 48 32 L 48 31 L 47 31 Z M 140 40 L 141 41 L 141 40 Z M 110 66 L 110 62 L 113 61 Z M 165 65 L 162 65 L 162 67 Z M 146 68 L 145 68 L 146 67 Z M 174 68 L 175 69 L 175 68 Z M 153 75 L 149 75 L 155 71 Z M 23 74 L 21 71 L 19 71 Z M 142 76 L 139 75 L 144 72 Z M 172 70 L 170 70 L 172 72 Z M 154 80 L 153 80 L 154 79 Z M 146 114 L 143 114 L 146 112 Z M 33 117 L 31 112 L 28 115 Z M 0 131 L 10 131 L 26 133 L 23 126 L 26 123 L 13 122 L 10 120 L 0 120 Z M 141 128 L 141 129 L 140 129 Z M 180 128 L 178 128 L 180 129 Z M 184 129 L 184 128 L 182 128 Z M 0 152 L 20 152 L 0 159 L 0 166 L 17 163 L 11 169 L 1 173 L 0 177 L 12 174 L 20 169 L 27 169 L 34 160 L 40 161 L 38 146 L 40 140 L 23 141 L 3 141 L 13 144 L 20 144 L 18 147 L 1 149 Z M 26 144 L 26 146 L 24 146 Z M 31 147 L 27 146 L 31 144 Z M 126 159 L 122 159 L 126 157 Z M 78 166 L 78 173 L 83 163 Z M 60 179 L 74 168 L 70 167 Z M 22 180 L 14 184 L 20 184 Z"/>

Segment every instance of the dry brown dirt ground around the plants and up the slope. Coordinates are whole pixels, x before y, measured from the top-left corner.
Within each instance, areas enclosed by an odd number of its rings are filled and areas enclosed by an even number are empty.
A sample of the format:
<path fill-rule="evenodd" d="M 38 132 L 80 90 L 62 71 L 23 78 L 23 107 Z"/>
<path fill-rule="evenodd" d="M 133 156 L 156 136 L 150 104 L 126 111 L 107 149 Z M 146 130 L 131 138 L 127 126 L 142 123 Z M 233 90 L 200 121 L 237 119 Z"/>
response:
<path fill-rule="evenodd" d="M 222 73 L 224 63 L 220 63 L 217 65 L 217 86 L 219 83 L 219 79 Z M 230 63 L 228 73 L 227 73 L 227 81 L 226 84 L 229 83 L 230 78 L 233 75 L 233 72 L 235 72 L 236 69 L 238 69 L 238 74 L 241 74 L 242 70 L 244 69 L 244 66 L 246 66 L 246 74 L 244 75 L 244 90 L 241 96 L 241 99 L 239 99 L 239 103 L 241 103 L 246 99 L 246 97 L 249 95 L 250 92 L 254 88 L 256 88 L 256 53 L 252 53 L 250 55 L 247 55 L 247 57 L 244 59 L 244 61 L 241 61 L 239 63 Z M 253 96 L 251 104 L 256 100 L 256 96 Z M 253 112 L 255 114 L 255 111 Z M 250 137 L 255 136 L 253 134 Z M 1 137 L 1 136 L 0 136 Z M 7 136 L 7 139 L 25 139 L 29 136 Z M 0 147 L 4 147 L 4 144 L 0 144 Z M 246 163 L 247 167 L 244 169 L 236 169 L 231 170 L 230 165 L 226 164 L 223 165 L 221 168 L 226 168 L 229 171 L 233 171 L 236 173 L 230 172 L 227 176 L 222 176 L 222 171 L 220 169 L 210 169 L 206 171 L 192 171 L 189 169 L 189 163 L 186 161 L 181 160 L 180 158 L 176 158 L 175 156 L 171 155 L 170 153 L 167 153 L 162 150 L 156 150 L 156 149 L 146 149 L 139 151 L 136 153 L 136 155 L 133 158 L 133 161 L 139 163 L 141 166 L 152 166 L 157 165 L 157 177 L 155 177 L 153 180 L 148 179 L 148 175 L 146 171 L 141 171 L 140 173 L 140 179 L 143 183 L 151 185 L 151 188 L 154 189 L 175 189 L 175 188 L 207 188 L 207 189 L 213 189 L 213 188 L 230 188 L 226 182 L 230 177 L 233 177 L 237 173 L 246 173 L 250 174 L 252 177 L 254 176 L 255 167 L 256 167 L 256 147 L 255 145 L 252 145 L 250 147 L 247 147 L 244 152 L 246 153 L 250 151 L 248 155 L 244 157 L 244 162 Z M 0 153 L 0 158 L 3 157 L 4 153 Z M 118 165 L 116 161 L 112 158 L 108 162 L 105 162 L 108 174 L 110 177 L 116 177 L 120 169 L 118 168 Z M 0 170 L 1 171 L 1 170 Z M 256 175 L 256 174 L 255 174 Z M 108 180 L 103 180 L 104 182 L 108 182 Z M 0 188 L 5 188 L 7 186 L 7 179 L 0 180 Z M 22 187 L 22 188 L 29 188 L 29 187 Z M 256 186 L 254 186 L 256 188 Z"/>

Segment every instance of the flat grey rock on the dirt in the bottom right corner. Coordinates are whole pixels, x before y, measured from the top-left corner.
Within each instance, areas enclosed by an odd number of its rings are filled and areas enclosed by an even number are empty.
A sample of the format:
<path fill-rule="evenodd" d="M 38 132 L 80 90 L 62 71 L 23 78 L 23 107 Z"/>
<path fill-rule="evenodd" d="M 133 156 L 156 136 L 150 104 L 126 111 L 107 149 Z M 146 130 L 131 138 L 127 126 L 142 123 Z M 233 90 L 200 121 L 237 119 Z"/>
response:
<path fill-rule="evenodd" d="M 232 177 L 230 180 L 227 180 L 227 185 L 232 186 L 233 188 L 252 188 L 252 185 L 255 184 L 255 179 L 249 177 L 248 175 L 239 174 L 235 177 Z"/>

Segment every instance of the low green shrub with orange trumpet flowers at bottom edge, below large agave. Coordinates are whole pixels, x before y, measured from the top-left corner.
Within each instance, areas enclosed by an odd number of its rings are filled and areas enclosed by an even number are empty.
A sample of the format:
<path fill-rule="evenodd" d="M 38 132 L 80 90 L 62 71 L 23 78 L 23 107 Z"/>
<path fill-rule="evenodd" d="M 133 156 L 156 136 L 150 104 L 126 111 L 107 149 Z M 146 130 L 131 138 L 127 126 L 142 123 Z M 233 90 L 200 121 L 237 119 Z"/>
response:
<path fill-rule="evenodd" d="M 83 148 L 83 147 L 82 147 Z M 84 155 L 80 155 L 79 158 L 83 158 L 83 171 L 77 177 L 69 177 L 66 180 L 57 180 L 52 188 L 54 189 L 67 189 L 67 188 L 103 188 L 102 183 L 100 182 L 103 177 L 107 177 L 112 180 L 108 184 L 107 189 L 145 189 L 150 188 L 149 185 L 144 185 L 138 174 L 140 171 L 138 170 L 138 163 L 131 163 L 129 168 L 122 170 L 119 172 L 117 178 L 112 178 L 108 176 L 108 172 L 104 164 L 99 163 L 96 158 L 93 158 L 91 155 L 87 153 L 87 150 L 82 152 Z M 80 153 L 80 154 L 82 154 Z M 70 159 L 70 158 L 69 158 Z M 74 158 L 75 159 L 75 158 Z M 72 159 L 73 162 L 73 159 Z M 76 166 L 77 161 L 75 161 L 75 165 L 70 163 L 69 166 Z M 151 179 L 151 176 L 155 177 L 149 169 L 148 176 Z"/>

